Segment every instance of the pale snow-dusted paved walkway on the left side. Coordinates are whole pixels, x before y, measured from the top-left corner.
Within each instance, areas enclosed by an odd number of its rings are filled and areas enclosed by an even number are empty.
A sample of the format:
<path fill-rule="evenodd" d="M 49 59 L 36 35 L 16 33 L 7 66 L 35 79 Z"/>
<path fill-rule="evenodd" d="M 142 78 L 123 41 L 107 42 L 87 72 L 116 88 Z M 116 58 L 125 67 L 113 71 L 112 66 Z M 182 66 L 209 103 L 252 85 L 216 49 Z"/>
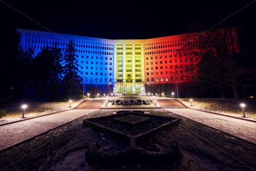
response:
<path fill-rule="evenodd" d="M 0 127 L 0 151 L 96 110 L 71 110 Z"/>

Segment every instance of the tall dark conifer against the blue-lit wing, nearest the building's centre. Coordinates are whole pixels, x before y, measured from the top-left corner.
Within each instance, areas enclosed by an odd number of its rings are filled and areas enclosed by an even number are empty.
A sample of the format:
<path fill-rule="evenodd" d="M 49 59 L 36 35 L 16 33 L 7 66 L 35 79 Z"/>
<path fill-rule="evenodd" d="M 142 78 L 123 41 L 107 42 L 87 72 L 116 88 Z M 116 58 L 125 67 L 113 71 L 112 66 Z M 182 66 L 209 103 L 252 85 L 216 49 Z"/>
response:
<path fill-rule="evenodd" d="M 63 67 L 64 77 L 62 80 L 63 85 L 63 95 L 65 97 L 75 97 L 81 93 L 80 82 L 82 78 L 78 73 L 78 61 L 76 59 L 75 46 L 73 41 L 69 41 L 67 48 L 65 49 L 65 54 L 63 56 Z"/>

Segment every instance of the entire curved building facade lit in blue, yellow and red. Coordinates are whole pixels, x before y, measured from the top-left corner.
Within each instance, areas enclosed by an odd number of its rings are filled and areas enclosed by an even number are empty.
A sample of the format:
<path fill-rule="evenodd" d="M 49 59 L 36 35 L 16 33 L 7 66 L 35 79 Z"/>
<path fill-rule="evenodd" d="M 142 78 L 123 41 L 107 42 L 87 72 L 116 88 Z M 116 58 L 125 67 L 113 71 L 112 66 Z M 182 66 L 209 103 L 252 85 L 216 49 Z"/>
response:
<path fill-rule="evenodd" d="M 193 56 L 186 53 L 191 49 L 184 46 L 189 41 L 185 38 L 187 34 L 113 40 L 26 29 L 17 32 L 19 46 L 34 49 L 35 55 L 54 42 L 63 51 L 68 41 L 73 40 L 81 66 L 78 74 L 84 78 L 86 89 L 92 83 L 102 93 L 139 94 L 154 85 L 169 84 L 175 91 L 177 83 L 196 81 L 196 74 L 185 71 L 194 62 Z"/>

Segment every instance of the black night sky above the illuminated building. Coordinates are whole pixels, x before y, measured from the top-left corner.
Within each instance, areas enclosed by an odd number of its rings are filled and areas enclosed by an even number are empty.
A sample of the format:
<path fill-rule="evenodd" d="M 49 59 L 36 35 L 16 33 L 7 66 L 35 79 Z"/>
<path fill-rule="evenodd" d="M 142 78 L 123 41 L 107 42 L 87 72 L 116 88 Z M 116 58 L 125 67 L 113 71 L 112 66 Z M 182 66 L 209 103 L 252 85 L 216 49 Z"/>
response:
<path fill-rule="evenodd" d="M 110 39 L 153 38 L 206 30 L 252 2 L 3 1 L 53 32 Z M 256 2 L 215 28 L 241 26 L 254 32 L 255 11 Z M 2 2 L 0 14 L 4 44 L 1 54 L 17 49 L 16 28 L 47 31 Z"/>

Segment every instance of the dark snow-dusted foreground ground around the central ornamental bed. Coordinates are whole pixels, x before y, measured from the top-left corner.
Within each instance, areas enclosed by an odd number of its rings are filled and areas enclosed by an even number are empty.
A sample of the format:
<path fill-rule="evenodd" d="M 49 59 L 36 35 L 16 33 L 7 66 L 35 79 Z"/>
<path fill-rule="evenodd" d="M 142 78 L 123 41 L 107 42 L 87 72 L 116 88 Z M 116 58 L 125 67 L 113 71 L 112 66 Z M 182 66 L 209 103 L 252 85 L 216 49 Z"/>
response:
<path fill-rule="evenodd" d="M 169 116 L 169 112 L 149 112 Z M 96 111 L 8 151 L 0 152 L 0 170 L 99 170 L 84 162 L 84 152 L 93 141 L 111 144 L 115 143 L 115 140 L 84 126 L 82 121 L 86 118 L 109 115 L 108 113 L 111 112 Z M 256 145 L 200 123 L 183 118 L 179 126 L 151 138 L 151 141 L 163 145 L 173 140 L 179 144 L 183 161 L 178 167 L 168 170 L 256 169 Z M 156 169 L 137 163 L 114 170 Z"/>

